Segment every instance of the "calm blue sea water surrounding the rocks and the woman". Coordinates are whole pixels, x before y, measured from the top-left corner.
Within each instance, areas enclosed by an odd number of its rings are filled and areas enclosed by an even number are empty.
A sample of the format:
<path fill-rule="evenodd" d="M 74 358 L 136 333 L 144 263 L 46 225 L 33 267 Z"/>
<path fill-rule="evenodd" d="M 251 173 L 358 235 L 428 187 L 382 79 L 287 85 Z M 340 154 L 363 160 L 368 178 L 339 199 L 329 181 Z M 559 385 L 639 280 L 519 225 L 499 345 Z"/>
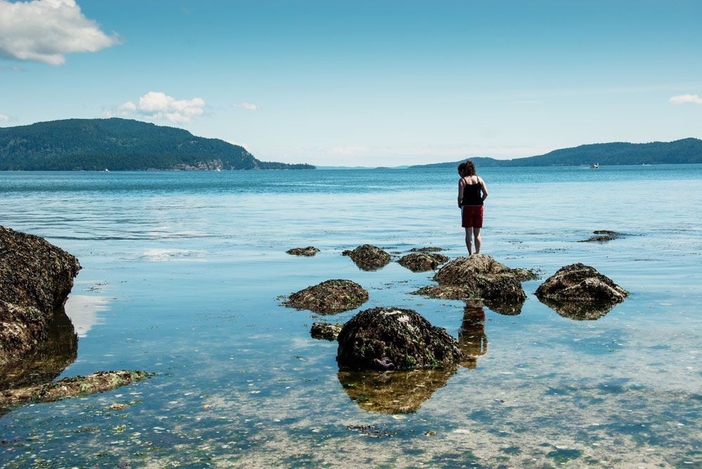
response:
<path fill-rule="evenodd" d="M 599 320 L 539 303 L 539 280 L 520 315 L 483 320 L 409 294 L 431 273 L 341 256 L 364 243 L 465 255 L 454 173 L 0 174 L 0 224 L 83 266 L 67 304 L 78 358 L 62 376 L 157 372 L 4 414 L 0 465 L 701 467 L 702 165 L 482 170 L 483 252 L 545 276 L 594 266 L 631 292 Z M 630 236 L 577 243 L 596 229 Z M 322 252 L 285 254 L 306 245 Z M 413 308 L 457 337 L 463 325 L 486 353 L 443 378 L 350 380 L 309 329 L 355 311 L 280 304 L 330 278 L 366 287 L 362 308 Z M 378 412 L 393 406 L 414 412 Z"/>

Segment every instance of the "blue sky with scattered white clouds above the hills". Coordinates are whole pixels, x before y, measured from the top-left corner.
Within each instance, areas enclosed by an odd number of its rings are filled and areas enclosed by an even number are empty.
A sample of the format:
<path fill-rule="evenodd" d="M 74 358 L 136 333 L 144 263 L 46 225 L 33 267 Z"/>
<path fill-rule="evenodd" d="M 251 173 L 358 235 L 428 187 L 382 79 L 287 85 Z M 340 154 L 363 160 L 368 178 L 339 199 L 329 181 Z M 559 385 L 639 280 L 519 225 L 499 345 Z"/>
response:
<path fill-rule="evenodd" d="M 264 161 L 702 137 L 702 1 L 0 0 L 0 126 L 118 116 Z"/>

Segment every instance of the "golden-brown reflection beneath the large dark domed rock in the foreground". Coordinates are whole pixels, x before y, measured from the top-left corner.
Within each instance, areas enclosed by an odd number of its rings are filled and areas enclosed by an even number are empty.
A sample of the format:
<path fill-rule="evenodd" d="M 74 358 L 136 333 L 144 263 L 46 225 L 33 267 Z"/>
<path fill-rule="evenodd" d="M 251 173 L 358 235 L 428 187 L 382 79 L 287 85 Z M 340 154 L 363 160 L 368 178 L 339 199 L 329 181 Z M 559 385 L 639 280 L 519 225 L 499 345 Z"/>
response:
<path fill-rule="evenodd" d="M 359 407 L 380 414 L 417 412 L 434 391 L 446 386 L 458 367 L 403 372 L 339 372 L 338 379 Z"/>

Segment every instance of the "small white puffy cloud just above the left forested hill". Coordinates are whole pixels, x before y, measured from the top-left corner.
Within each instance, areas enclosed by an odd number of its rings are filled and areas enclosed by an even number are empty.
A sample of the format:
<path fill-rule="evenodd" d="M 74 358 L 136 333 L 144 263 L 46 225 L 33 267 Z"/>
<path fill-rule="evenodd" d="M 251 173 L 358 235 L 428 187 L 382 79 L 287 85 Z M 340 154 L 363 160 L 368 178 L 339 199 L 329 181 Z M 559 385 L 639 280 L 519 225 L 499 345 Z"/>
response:
<path fill-rule="evenodd" d="M 205 102 L 200 97 L 192 100 L 176 100 L 160 91 L 150 91 L 139 98 L 135 104 L 127 101 L 102 113 L 105 117 L 134 117 L 139 116 L 154 121 L 169 121 L 172 123 L 192 122 L 205 112 Z"/>

